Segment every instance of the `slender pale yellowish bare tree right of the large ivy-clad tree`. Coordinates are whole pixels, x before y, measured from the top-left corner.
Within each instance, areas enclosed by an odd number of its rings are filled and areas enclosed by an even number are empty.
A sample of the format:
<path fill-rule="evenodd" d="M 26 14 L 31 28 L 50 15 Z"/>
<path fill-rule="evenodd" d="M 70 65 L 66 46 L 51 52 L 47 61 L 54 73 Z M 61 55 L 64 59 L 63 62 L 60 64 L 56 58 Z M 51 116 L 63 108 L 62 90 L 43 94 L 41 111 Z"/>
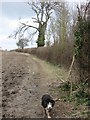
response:
<path fill-rule="evenodd" d="M 55 9 L 55 15 L 56 15 L 56 23 L 54 26 L 56 26 L 56 34 L 55 35 L 58 38 L 58 42 L 62 44 L 62 48 L 64 48 L 64 43 L 67 38 L 67 32 L 68 32 L 68 25 L 69 25 L 69 10 L 68 10 L 68 3 L 66 2 L 60 2 Z"/>

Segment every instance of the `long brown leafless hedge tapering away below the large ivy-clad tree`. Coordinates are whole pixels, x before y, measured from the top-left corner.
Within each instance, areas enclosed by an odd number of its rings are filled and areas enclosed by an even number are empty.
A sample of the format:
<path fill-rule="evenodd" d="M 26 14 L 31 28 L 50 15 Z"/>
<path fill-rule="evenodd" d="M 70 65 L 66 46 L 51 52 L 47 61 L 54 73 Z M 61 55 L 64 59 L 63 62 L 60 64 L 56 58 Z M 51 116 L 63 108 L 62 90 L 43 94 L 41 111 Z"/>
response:
<path fill-rule="evenodd" d="M 61 46 L 54 45 L 51 47 L 38 47 L 38 48 L 26 48 L 17 49 L 17 52 L 25 52 L 29 54 L 34 54 L 37 57 L 46 60 L 50 63 L 69 67 L 73 56 L 73 45 L 66 43 L 65 48 L 62 50 Z"/>

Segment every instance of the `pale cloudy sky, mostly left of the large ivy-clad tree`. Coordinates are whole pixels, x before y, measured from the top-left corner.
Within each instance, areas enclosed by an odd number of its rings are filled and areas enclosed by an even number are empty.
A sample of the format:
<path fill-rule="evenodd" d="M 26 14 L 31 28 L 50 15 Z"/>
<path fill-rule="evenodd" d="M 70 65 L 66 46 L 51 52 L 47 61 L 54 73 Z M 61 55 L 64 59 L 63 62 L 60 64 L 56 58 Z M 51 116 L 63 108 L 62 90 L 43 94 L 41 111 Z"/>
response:
<path fill-rule="evenodd" d="M 35 15 L 30 6 L 23 2 L 24 0 L 11 1 L 2 0 L 0 2 L 0 47 L 7 50 L 17 48 L 17 40 L 8 38 L 8 36 L 16 30 L 19 18 L 30 20 L 31 24 L 34 24 L 31 18 Z M 74 0 L 74 2 L 76 1 L 78 0 Z M 72 2 L 72 0 L 69 0 L 69 2 Z M 36 43 L 29 44 L 28 47 L 34 46 L 36 46 Z"/>

